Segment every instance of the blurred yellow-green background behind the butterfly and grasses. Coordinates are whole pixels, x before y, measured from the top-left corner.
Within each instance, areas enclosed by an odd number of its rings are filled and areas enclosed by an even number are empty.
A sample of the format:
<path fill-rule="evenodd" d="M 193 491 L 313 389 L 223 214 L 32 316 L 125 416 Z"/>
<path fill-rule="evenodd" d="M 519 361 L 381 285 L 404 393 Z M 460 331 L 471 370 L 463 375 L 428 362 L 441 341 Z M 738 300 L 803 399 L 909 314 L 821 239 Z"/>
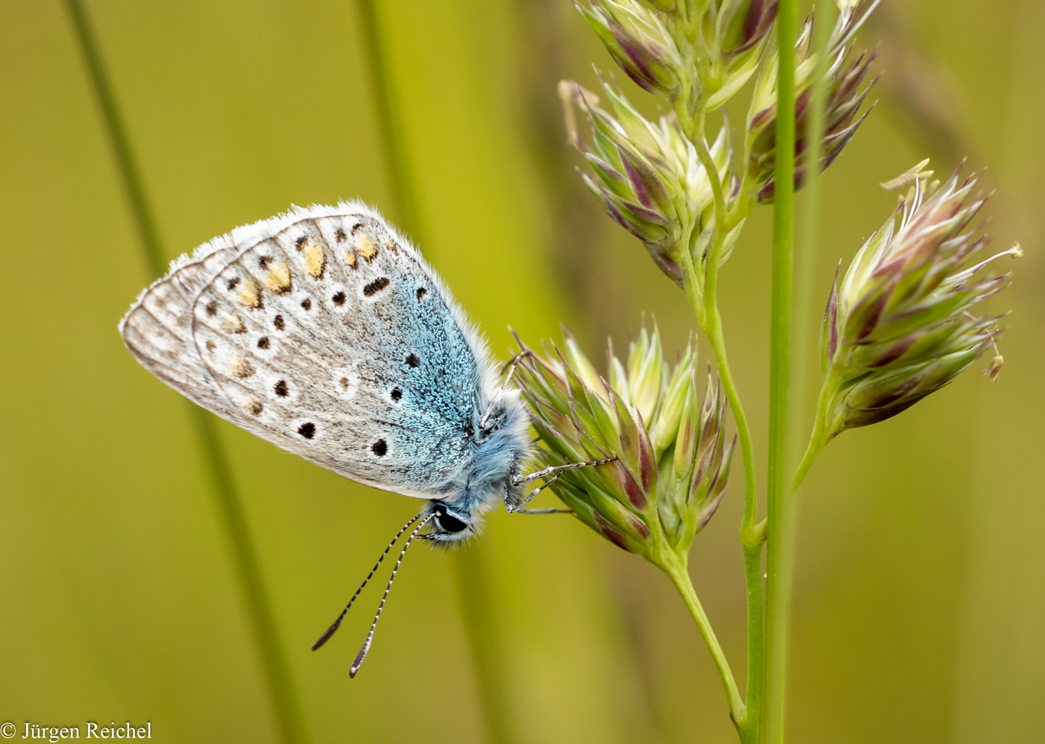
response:
<path fill-rule="evenodd" d="M 168 257 L 292 203 L 359 197 L 397 216 L 354 2 L 87 8 Z M 568 1 L 375 9 L 412 232 L 496 351 L 508 354 L 509 324 L 532 343 L 565 321 L 599 356 L 643 311 L 669 349 L 684 343 L 681 293 L 600 213 L 562 144 L 555 83 L 590 87 L 591 61 L 611 67 Z M 877 184 L 924 157 L 937 172 L 965 156 L 990 166 L 990 230 L 1027 255 L 1002 266 L 1017 274 L 994 308 L 1013 309 L 1000 380 L 981 363 L 845 434 L 807 482 L 792 741 L 1045 741 L 1043 39 L 1038 0 L 886 0 L 861 32 L 881 40 L 886 74 L 826 176 L 807 322 L 836 261 L 892 208 Z M 749 220 L 721 290 L 758 432 L 770 220 Z M 154 277 L 59 0 L 0 0 L 0 721 L 150 720 L 162 741 L 278 741 L 186 408 L 116 332 Z M 416 503 L 219 433 L 311 740 L 484 741 L 459 557 L 412 553 L 355 680 L 376 589 L 309 651 Z M 738 468 L 691 572 L 743 676 L 741 486 Z M 652 566 L 570 518 L 503 512 L 469 550 L 490 582 L 517 742 L 735 741 L 707 652 Z"/>

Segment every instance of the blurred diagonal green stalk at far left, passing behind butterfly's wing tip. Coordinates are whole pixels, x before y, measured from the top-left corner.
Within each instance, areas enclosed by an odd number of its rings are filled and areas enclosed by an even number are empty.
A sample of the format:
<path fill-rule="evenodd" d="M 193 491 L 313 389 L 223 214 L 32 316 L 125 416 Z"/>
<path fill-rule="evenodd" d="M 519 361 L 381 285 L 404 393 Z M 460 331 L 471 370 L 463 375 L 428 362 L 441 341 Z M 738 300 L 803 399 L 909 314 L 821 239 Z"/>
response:
<path fill-rule="evenodd" d="M 127 201 L 131 203 L 131 212 L 138 229 L 138 237 L 145 261 L 152 276 L 162 276 L 165 261 L 159 232 L 156 229 L 156 220 L 145 195 L 138 164 L 134 152 L 131 149 L 131 141 L 116 104 L 116 97 L 101 62 L 97 41 L 82 0 L 66 0 L 66 6 L 79 41 L 80 51 L 84 53 L 84 62 L 87 65 L 98 108 L 104 119 L 110 144 L 116 156 L 116 163 L 123 181 Z M 261 652 L 269 682 L 269 693 L 272 697 L 282 741 L 288 744 L 307 742 L 304 716 L 298 702 L 289 665 L 283 654 L 272 606 L 265 595 L 261 568 L 251 541 L 242 506 L 236 493 L 232 468 L 222 446 L 217 429 L 214 427 L 214 417 L 191 402 L 186 404 L 204 459 L 204 470 L 210 478 L 211 491 L 222 516 L 225 536 L 236 566 L 240 590 L 247 600 L 248 615 L 254 629 L 255 641 Z"/>

